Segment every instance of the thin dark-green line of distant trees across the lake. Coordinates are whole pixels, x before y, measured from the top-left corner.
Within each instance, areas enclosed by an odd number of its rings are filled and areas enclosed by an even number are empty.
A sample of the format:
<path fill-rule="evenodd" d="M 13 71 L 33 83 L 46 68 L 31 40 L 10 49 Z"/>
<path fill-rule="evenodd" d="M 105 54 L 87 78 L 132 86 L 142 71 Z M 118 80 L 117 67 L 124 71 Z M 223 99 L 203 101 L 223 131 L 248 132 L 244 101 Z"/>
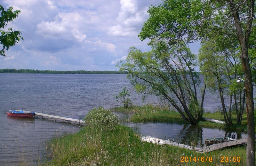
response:
<path fill-rule="evenodd" d="M 32 70 L 32 69 L 0 69 L 0 73 L 40 73 L 40 74 L 127 74 L 119 71 L 56 71 L 56 70 Z"/>

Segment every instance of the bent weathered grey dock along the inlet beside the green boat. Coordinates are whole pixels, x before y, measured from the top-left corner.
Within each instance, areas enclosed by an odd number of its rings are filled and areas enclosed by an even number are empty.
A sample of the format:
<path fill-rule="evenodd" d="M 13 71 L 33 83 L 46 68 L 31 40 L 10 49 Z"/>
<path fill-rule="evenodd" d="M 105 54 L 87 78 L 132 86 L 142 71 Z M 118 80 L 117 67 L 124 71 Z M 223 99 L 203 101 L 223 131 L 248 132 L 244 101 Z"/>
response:
<path fill-rule="evenodd" d="M 214 145 L 210 145 L 207 147 L 199 148 L 199 147 L 192 147 L 189 145 L 180 144 L 180 143 L 173 142 L 170 140 L 163 140 L 160 138 L 155 138 L 155 137 L 150 137 L 150 136 L 142 136 L 140 138 L 140 140 L 152 142 L 152 143 L 156 143 L 156 144 L 160 144 L 160 145 L 168 144 L 168 145 L 175 146 L 175 147 L 181 147 L 181 148 L 193 150 L 197 153 L 207 153 L 207 152 L 211 152 L 213 150 L 218 150 L 218 149 L 222 149 L 222 148 L 226 148 L 226 147 L 231 147 L 231 146 L 247 143 L 247 138 L 246 138 L 246 139 L 233 140 L 233 141 L 228 141 L 228 142 L 224 142 L 224 143 L 219 143 L 219 144 L 214 144 Z"/>

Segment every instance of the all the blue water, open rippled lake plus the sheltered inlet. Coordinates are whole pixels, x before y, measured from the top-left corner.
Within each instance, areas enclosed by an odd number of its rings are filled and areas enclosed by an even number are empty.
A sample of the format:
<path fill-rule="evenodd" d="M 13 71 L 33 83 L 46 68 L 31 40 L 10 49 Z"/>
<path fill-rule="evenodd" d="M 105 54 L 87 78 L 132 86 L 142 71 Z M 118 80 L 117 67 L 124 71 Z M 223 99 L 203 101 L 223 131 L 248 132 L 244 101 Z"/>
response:
<path fill-rule="evenodd" d="M 82 119 L 87 112 L 98 106 L 121 106 L 114 97 L 123 87 L 131 91 L 135 105 L 160 104 L 155 96 L 142 102 L 124 74 L 1 74 L 0 73 L 0 163 L 17 165 L 19 162 L 37 163 L 46 156 L 45 143 L 62 133 L 74 133 L 79 125 L 47 121 L 42 118 L 17 119 L 6 116 L 12 109 L 49 113 L 62 117 Z M 198 94 L 200 96 L 200 94 Z M 228 98 L 227 98 L 228 100 Z M 218 94 L 205 94 L 204 109 L 215 111 L 221 107 Z M 129 115 L 118 114 L 127 118 Z M 204 146 L 204 139 L 244 133 L 204 129 L 188 124 L 125 123 L 142 135 L 166 138 L 181 143 L 194 142 Z M 149 127 L 150 126 L 150 127 Z"/>

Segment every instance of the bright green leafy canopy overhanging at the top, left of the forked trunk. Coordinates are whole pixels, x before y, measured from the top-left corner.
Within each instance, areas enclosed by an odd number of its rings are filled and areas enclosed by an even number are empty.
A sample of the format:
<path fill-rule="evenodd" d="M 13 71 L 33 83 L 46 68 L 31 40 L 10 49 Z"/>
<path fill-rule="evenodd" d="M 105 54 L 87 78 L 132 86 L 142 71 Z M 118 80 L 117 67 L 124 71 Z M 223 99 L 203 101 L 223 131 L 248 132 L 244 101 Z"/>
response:
<path fill-rule="evenodd" d="M 140 40 L 158 42 L 161 49 L 199 40 L 207 32 L 213 9 L 201 0 L 165 0 L 149 7 L 149 18 L 140 31 Z"/>

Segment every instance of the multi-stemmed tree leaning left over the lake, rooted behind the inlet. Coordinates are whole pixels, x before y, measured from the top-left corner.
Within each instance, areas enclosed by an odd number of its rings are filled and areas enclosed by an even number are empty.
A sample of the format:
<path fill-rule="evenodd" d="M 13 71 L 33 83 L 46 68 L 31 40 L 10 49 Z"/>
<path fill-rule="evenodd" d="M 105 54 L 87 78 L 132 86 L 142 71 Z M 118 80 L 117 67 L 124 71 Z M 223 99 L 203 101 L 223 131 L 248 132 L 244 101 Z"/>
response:
<path fill-rule="evenodd" d="M 128 71 L 127 77 L 137 92 L 167 100 L 185 122 L 197 124 L 203 116 L 206 86 L 200 102 L 196 89 L 200 83 L 194 70 L 196 65 L 196 55 L 181 46 L 169 51 L 152 49 L 149 52 L 131 47 L 126 61 L 116 66 L 120 71 Z"/>

